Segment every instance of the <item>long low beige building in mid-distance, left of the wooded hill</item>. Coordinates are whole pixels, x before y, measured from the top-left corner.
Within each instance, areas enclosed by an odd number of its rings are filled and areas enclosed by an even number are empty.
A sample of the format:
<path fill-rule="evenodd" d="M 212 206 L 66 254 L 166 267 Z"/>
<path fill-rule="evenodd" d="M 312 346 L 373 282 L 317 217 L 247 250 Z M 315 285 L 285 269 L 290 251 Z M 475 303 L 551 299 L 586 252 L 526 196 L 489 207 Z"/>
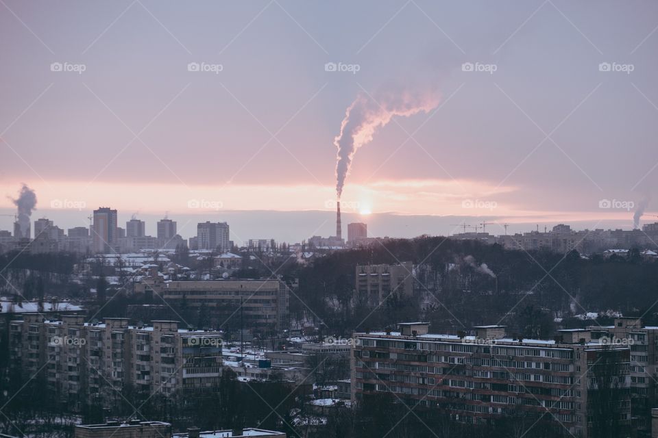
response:
<path fill-rule="evenodd" d="M 288 326 L 289 288 L 279 280 L 168 281 L 151 274 L 136 293 L 157 294 L 174 307 L 206 307 L 219 322 L 256 331 Z M 242 306 L 242 309 L 241 309 Z"/>

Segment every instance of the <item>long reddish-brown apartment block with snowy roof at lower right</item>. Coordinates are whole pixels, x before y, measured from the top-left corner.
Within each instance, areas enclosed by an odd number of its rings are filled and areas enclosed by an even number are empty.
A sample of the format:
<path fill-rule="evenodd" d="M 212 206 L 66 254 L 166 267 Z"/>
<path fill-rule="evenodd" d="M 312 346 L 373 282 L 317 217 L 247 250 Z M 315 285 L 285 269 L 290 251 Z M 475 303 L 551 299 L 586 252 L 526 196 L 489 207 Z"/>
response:
<path fill-rule="evenodd" d="M 476 336 L 434 335 L 428 325 L 354 334 L 352 402 L 393 393 L 412 406 L 438 407 L 471 424 L 520 412 L 539 419 L 550 411 L 546 419 L 587 438 L 594 436 L 595 421 L 588 407 L 602 400 L 592 387 L 607 375 L 620 397 L 616 420 L 630 426 L 628 346 L 601 344 L 586 330 L 561 331 L 546 341 L 504 337 L 502 326 L 476 327 Z"/>

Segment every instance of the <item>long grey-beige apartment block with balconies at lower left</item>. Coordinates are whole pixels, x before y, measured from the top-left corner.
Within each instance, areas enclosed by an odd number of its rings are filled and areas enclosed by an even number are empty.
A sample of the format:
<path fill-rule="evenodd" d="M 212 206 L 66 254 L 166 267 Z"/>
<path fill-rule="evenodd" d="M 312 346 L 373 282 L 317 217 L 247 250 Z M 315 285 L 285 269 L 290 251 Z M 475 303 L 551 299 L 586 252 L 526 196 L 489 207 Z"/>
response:
<path fill-rule="evenodd" d="M 45 320 L 29 313 L 10 322 L 10 367 L 42 375 L 71 405 L 108 402 L 125 385 L 147 394 L 197 394 L 219 385 L 221 335 L 179 329 L 175 321 L 131 326 L 127 318 L 84 322 L 80 315 Z"/>

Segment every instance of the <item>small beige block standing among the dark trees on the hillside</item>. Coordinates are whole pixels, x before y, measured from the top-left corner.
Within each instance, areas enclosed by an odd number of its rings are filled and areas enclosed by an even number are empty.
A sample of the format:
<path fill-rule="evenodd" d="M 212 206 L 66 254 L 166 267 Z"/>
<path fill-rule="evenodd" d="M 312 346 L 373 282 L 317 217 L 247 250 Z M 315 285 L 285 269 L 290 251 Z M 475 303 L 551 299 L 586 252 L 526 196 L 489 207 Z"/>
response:
<path fill-rule="evenodd" d="M 413 265 L 403 261 L 397 265 L 357 265 L 356 294 L 378 305 L 395 292 L 401 296 L 413 294 Z"/>

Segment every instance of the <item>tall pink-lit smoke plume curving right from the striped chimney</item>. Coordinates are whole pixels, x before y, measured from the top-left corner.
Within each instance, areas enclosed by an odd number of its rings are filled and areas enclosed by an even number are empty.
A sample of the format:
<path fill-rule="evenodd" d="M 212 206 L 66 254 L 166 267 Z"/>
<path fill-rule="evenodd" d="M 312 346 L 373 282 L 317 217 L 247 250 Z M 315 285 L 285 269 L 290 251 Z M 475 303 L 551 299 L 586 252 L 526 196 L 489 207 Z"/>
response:
<path fill-rule="evenodd" d="M 393 116 L 409 117 L 429 112 L 439 105 L 439 95 L 429 90 L 403 90 L 387 87 L 378 90 L 372 98 L 358 94 L 345 112 L 341 133 L 334 138 L 338 148 L 336 163 L 336 194 L 341 198 L 345 178 L 350 173 L 356 150 L 371 142 L 375 131 L 384 127 Z"/>

